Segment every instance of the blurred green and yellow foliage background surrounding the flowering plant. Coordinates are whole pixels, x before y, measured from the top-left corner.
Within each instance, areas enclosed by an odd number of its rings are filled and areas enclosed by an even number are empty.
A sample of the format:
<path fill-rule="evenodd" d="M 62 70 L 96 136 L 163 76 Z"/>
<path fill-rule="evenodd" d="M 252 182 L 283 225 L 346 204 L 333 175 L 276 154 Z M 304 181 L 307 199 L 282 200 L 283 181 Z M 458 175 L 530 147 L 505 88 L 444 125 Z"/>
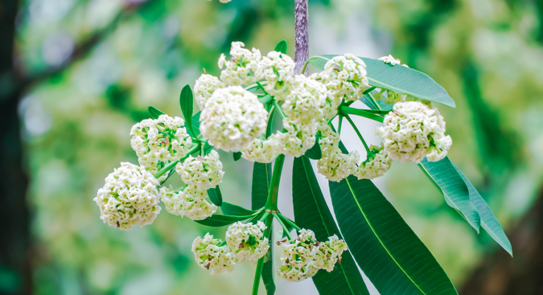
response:
<path fill-rule="evenodd" d="M 309 5 L 310 55 L 390 53 L 456 101 L 438 105 L 449 156 L 494 210 L 514 258 L 416 165 L 395 163 L 376 183 L 460 294 L 543 294 L 543 1 Z M 253 265 L 210 277 L 194 263 L 192 240 L 210 229 L 163 210 L 119 231 L 92 198 L 119 162 L 137 162 L 129 130 L 148 105 L 181 116 L 180 90 L 203 68 L 219 74 L 231 41 L 266 53 L 282 39 L 292 56 L 292 0 L 0 1 L 0 294 L 249 293 Z M 377 143 L 375 123 L 356 122 Z M 251 163 L 220 155 L 225 200 L 249 206 Z M 284 171 L 280 209 L 292 217 L 292 159 Z M 311 279 L 276 284 L 277 294 L 316 294 Z"/>

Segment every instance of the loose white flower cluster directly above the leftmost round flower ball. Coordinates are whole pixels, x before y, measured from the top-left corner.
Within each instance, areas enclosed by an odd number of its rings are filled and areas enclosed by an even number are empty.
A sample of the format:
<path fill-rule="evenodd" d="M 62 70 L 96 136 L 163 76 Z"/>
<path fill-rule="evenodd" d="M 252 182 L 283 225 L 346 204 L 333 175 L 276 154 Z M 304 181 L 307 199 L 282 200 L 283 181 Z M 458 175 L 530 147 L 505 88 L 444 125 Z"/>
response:
<path fill-rule="evenodd" d="M 180 117 L 160 115 L 157 120 L 146 119 L 132 126 L 130 145 L 140 165 L 156 173 L 165 163 L 186 156 L 192 139 L 184 124 Z"/>

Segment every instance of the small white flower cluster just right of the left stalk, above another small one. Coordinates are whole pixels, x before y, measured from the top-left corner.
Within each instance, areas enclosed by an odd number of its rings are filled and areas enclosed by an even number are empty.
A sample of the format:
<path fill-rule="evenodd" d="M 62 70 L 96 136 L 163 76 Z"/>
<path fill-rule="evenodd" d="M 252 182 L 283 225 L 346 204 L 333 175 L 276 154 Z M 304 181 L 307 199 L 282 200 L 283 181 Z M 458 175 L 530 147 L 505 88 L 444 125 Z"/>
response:
<path fill-rule="evenodd" d="M 216 150 L 205 156 L 188 156 L 175 166 L 175 172 L 181 175 L 181 180 L 188 185 L 201 190 L 216 187 L 223 179 L 223 164 Z"/>

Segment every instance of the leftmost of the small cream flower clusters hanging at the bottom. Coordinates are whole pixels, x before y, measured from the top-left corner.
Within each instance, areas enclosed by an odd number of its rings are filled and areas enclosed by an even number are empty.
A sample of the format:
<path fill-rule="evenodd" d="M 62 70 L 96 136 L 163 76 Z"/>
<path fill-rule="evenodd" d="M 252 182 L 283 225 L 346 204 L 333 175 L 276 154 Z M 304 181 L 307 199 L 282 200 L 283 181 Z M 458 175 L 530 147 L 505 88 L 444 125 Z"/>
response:
<path fill-rule="evenodd" d="M 228 246 L 220 246 L 220 240 L 213 238 L 209 233 L 204 238 L 198 236 L 192 242 L 192 253 L 194 259 L 201 268 L 211 270 L 211 275 L 224 271 L 232 272 L 236 266 L 232 249 Z"/>

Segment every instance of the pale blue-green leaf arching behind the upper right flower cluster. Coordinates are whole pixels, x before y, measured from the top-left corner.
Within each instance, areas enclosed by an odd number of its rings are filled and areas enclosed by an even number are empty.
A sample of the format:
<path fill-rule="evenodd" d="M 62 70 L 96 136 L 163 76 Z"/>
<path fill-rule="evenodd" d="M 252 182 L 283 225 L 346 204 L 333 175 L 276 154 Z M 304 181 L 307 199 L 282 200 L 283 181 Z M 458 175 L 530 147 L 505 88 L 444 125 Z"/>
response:
<path fill-rule="evenodd" d="M 336 56 L 335 54 L 321 55 L 320 57 L 308 59 L 308 62 L 320 70 L 324 70 L 326 62 Z M 427 74 L 401 65 L 391 66 L 378 59 L 361 59 L 367 66 L 367 77 L 371 86 L 392 90 L 396 93 L 404 93 L 454 108 L 455 104 L 449 93 Z"/>

